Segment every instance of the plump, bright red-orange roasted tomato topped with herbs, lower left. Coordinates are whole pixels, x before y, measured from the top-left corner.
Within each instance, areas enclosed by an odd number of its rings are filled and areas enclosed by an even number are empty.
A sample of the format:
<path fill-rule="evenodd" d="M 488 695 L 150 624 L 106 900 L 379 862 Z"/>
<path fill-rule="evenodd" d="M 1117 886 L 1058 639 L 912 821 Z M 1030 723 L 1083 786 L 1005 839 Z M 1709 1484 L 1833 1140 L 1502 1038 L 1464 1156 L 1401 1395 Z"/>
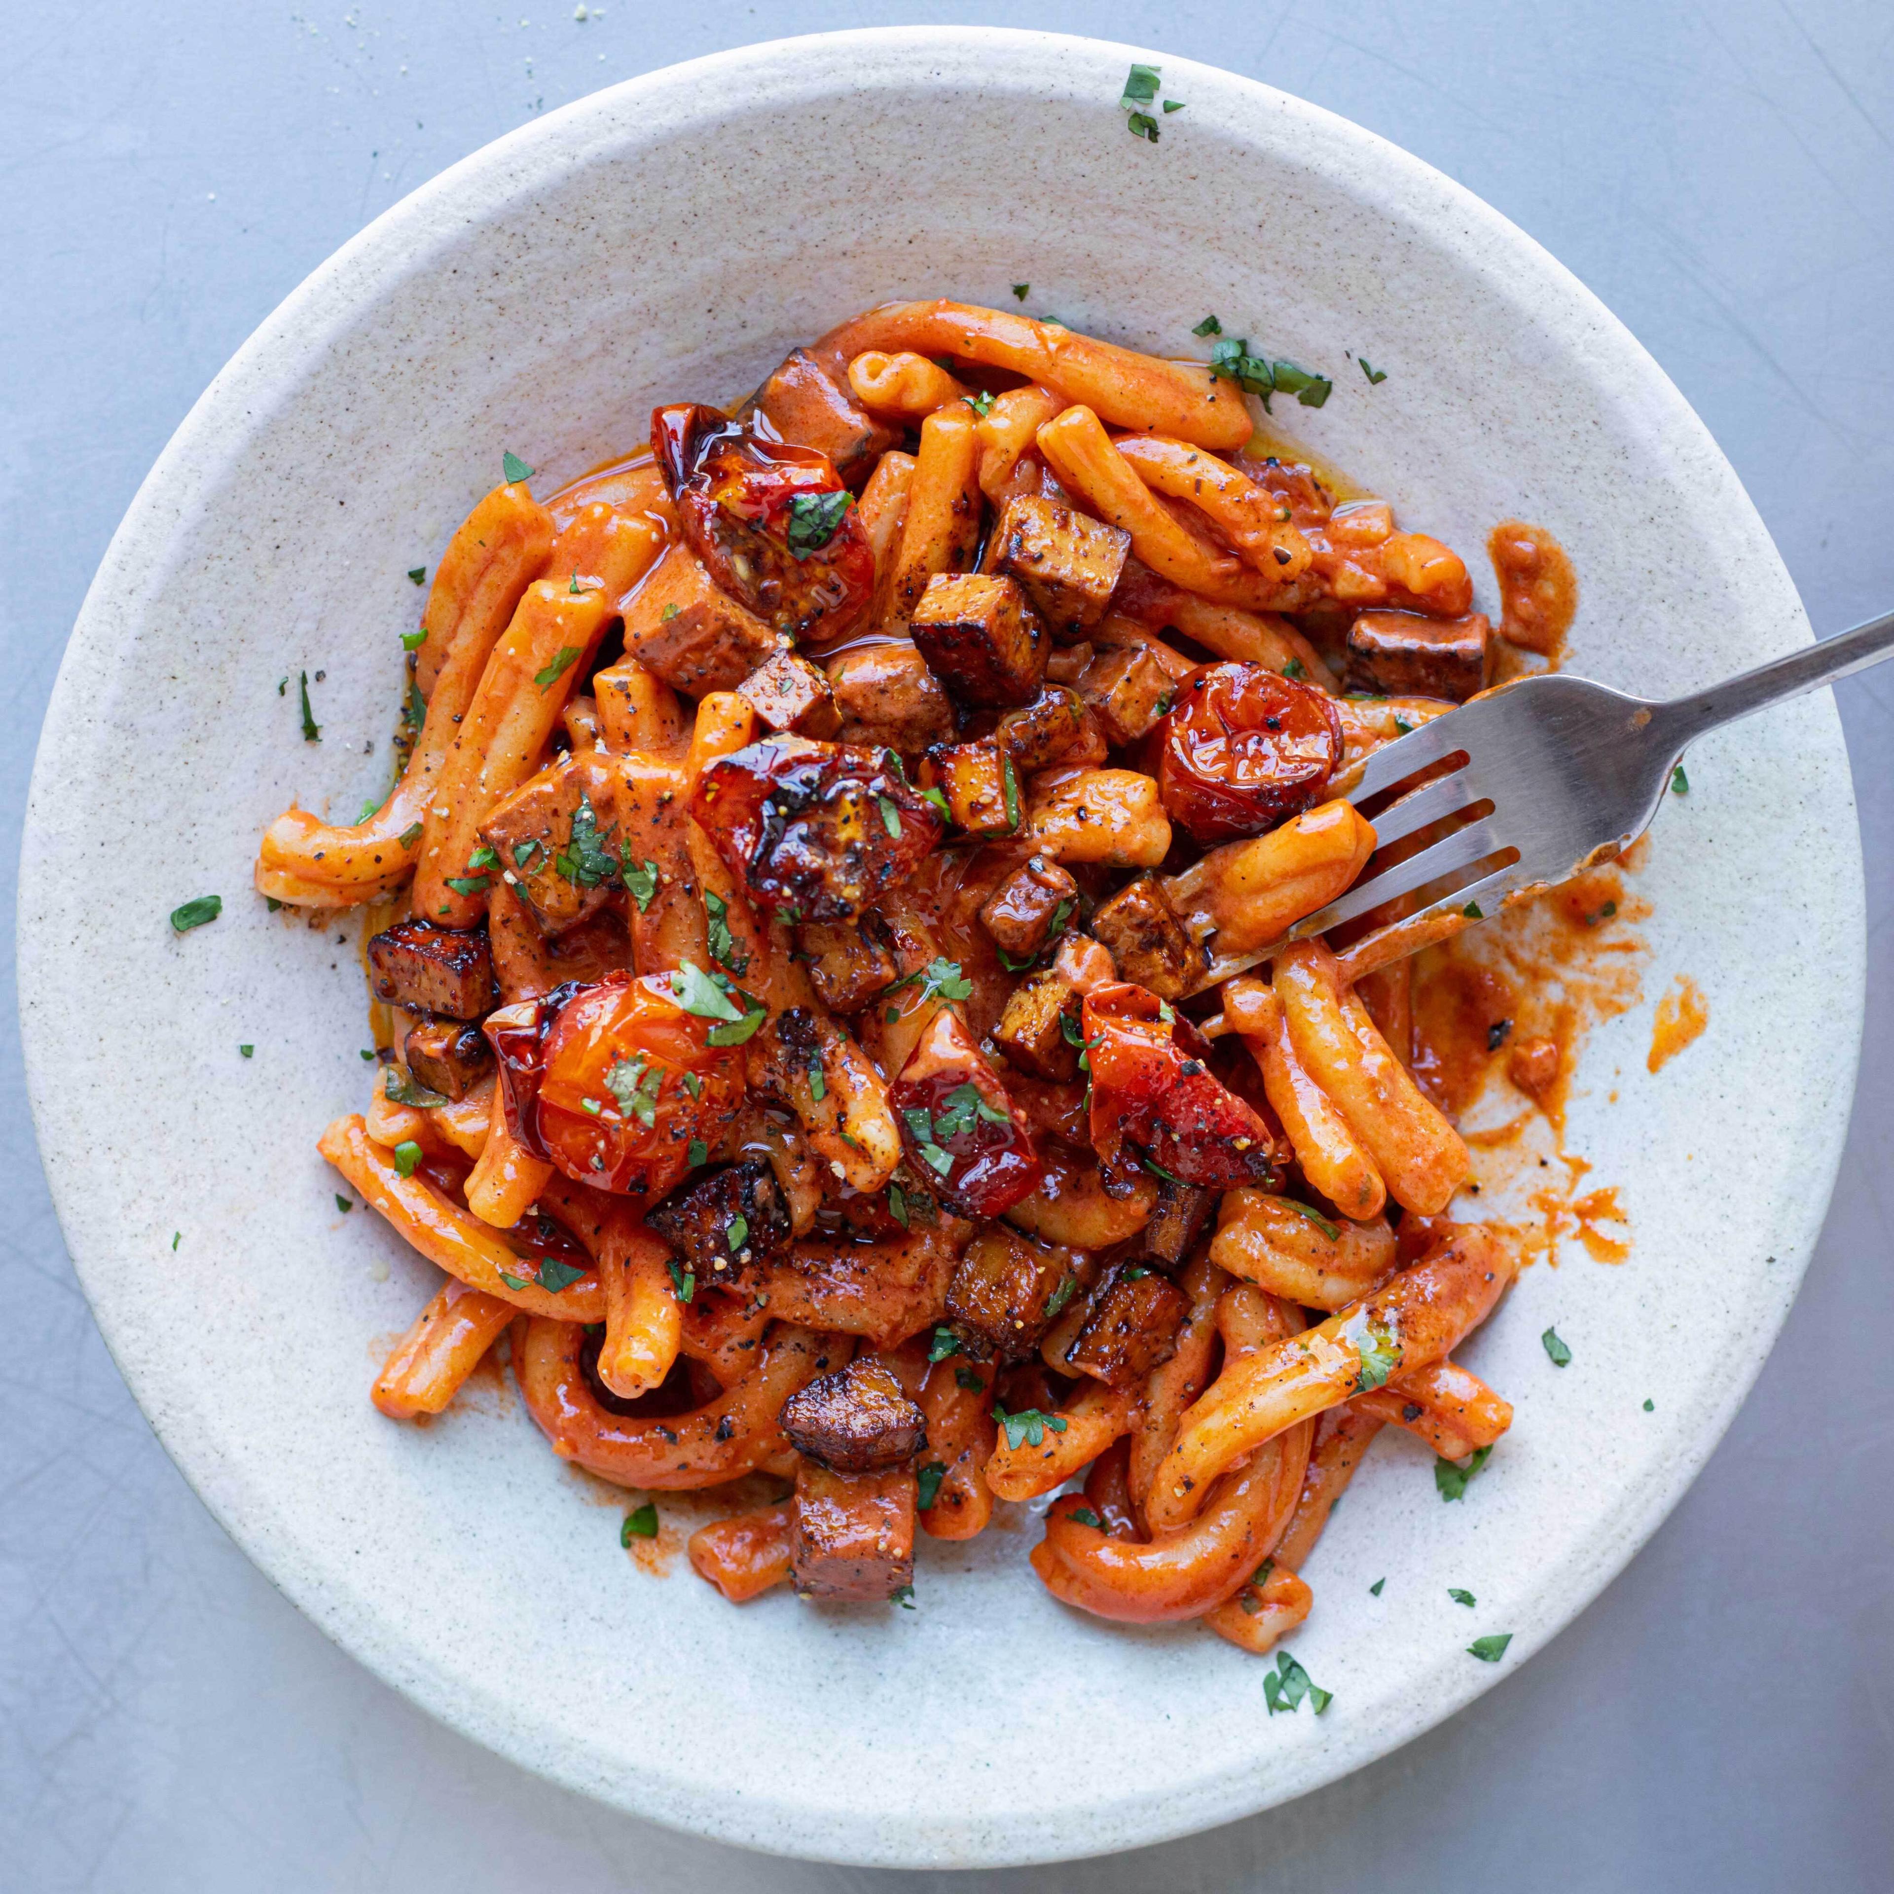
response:
<path fill-rule="evenodd" d="M 742 1051 L 684 1011 L 670 979 L 614 974 L 487 1017 L 508 1129 L 595 1189 L 655 1201 L 742 1104 Z"/>

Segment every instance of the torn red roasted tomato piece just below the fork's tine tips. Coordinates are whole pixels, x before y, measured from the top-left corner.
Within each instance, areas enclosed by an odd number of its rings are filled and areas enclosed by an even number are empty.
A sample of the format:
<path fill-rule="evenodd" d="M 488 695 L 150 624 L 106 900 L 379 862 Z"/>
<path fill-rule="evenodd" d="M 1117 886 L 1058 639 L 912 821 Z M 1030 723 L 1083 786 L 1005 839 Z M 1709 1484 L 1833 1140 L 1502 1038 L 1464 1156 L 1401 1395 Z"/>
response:
<path fill-rule="evenodd" d="M 1140 1169 L 1225 1189 L 1275 1180 L 1269 1127 L 1210 1072 L 1203 1034 L 1146 987 L 1085 994 L 1091 1140 L 1108 1180 Z"/>

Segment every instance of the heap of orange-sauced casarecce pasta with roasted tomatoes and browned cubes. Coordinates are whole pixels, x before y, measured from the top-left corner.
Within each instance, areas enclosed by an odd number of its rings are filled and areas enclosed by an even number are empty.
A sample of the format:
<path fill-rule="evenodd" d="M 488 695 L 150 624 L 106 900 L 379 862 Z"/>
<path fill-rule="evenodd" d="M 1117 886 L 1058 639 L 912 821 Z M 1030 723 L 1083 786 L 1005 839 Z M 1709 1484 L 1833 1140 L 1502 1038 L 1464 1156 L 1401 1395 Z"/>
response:
<path fill-rule="evenodd" d="M 545 500 L 509 456 L 403 634 L 394 790 L 256 867 L 373 903 L 320 1150 L 445 1273 L 377 1407 L 506 1335 L 599 1477 L 780 1483 L 691 1538 L 733 1602 L 905 1600 L 917 1527 L 1036 1502 L 1055 1599 L 1248 1652 L 1381 1426 L 1492 1447 L 1451 1350 L 1515 1265 L 1451 1220 L 1403 970 L 1282 936 L 1373 856 L 1339 788 L 1504 653 L 1256 422 L 894 303 Z"/>

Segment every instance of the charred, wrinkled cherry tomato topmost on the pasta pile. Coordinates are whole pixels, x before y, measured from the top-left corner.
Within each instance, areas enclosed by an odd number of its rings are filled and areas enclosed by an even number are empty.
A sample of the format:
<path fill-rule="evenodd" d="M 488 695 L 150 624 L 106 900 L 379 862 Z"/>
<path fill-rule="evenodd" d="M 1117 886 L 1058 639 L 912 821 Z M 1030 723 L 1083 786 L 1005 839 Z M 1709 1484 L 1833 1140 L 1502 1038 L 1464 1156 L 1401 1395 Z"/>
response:
<path fill-rule="evenodd" d="M 731 420 L 695 402 L 652 413 L 652 451 L 724 591 L 792 638 L 830 644 L 854 629 L 875 553 L 828 455 L 777 439 L 761 415 Z"/>

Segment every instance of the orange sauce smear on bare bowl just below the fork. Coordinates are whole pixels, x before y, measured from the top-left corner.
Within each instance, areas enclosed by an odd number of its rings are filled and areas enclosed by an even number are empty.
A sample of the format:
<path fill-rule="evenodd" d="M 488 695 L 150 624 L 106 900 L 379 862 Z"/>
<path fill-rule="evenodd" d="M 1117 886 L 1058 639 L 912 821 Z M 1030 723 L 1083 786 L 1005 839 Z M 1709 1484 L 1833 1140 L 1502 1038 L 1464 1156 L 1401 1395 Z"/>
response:
<path fill-rule="evenodd" d="M 1472 1155 L 1462 1208 L 1510 1229 L 1525 1261 L 1566 1242 L 1600 1263 L 1631 1252 L 1617 1189 L 1587 1186 L 1564 1125 L 1585 1034 L 1642 998 L 1642 862 L 1631 850 L 1415 956 L 1415 1080 Z"/>

